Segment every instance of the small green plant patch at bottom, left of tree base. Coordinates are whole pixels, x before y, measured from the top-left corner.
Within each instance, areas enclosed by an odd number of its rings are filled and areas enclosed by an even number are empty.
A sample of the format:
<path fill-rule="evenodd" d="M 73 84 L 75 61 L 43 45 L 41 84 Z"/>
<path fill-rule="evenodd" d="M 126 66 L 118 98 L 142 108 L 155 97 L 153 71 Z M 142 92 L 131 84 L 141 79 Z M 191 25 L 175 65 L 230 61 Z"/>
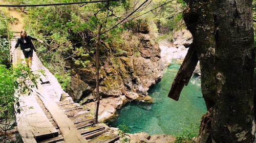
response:
<path fill-rule="evenodd" d="M 183 129 L 181 134 L 175 135 L 175 143 L 193 143 L 193 137 L 198 136 L 198 127 L 195 124 L 190 124 Z"/>

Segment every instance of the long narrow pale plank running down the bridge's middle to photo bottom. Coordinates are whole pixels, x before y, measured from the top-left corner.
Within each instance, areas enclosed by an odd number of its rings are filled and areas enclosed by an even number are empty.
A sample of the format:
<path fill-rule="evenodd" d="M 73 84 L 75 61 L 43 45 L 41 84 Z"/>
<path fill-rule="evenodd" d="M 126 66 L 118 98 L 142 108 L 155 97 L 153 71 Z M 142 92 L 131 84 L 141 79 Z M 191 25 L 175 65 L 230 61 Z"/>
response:
<path fill-rule="evenodd" d="M 46 108 L 51 113 L 53 120 L 56 122 L 59 130 L 66 142 L 87 142 L 87 140 L 82 137 L 79 131 L 76 129 L 74 123 L 61 111 L 59 106 L 49 97 L 47 91 L 38 84 L 38 89 L 36 90 L 39 98 L 44 102 Z"/>

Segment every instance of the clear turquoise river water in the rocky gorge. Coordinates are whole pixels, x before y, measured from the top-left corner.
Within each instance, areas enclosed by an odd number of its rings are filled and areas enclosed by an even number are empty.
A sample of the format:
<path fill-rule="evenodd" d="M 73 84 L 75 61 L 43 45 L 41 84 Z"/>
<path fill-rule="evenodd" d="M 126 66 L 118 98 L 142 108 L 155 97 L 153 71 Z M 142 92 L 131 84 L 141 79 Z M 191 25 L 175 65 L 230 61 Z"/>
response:
<path fill-rule="evenodd" d="M 131 102 L 118 113 L 112 127 L 125 126 L 126 132 L 148 134 L 180 134 L 194 126 L 199 130 L 201 117 L 206 113 L 206 105 L 201 93 L 200 77 L 193 77 L 181 92 L 178 101 L 167 97 L 180 64 L 173 60 L 163 71 L 162 80 L 148 94 L 154 104 Z"/>

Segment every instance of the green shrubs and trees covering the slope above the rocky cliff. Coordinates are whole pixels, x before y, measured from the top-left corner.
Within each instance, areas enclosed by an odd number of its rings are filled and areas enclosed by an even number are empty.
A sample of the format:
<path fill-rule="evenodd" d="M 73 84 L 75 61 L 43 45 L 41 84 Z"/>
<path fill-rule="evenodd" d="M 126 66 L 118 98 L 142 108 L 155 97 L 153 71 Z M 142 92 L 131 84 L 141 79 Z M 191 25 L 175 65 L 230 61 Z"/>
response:
<path fill-rule="evenodd" d="M 11 0 L 9 0 L 11 1 Z M 30 0 L 19 1 L 22 4 L 56 4 L 77 1 L 68 0 Z M 79 2 L 79 1 L 78 1 Z M 138 10 L 130 19 L 113 28 L 108 33 L 101 34 L 101 43 L 105 43 L 104 48 L 100 48 L 104 54 L 115 56 L 136 54 L 140 56 L 138 49 L 139 40 L 130 36 L 130 31 L 141 32 L 138 29 L 141 25 L 148 25 L 154 37 L 158 37 L 158 26 L 156 24 L 159 17 L 163 17 L 160 25 L 172 30 L 174 26 L 180 27 L 176 22 L 182 21 L 182 15 L 174 12 L 174 9 L 181 10 L 184 2 L 179 0 L 176 3 L 168 3 L 162 8 L 158 8 L 152 13 L 143 14 L 146 11 L 162 5 L 166 1 L 157 0 L 148 2 Z M 88 64 L 94 64 L 93 56 L 95 51 L 95 37 L 99 23 L 103 24 L 101 32 L 107 31 L 123 20 L 142 2 L 116 1 L 102 3 L 88 3 L 85 5 L 63 5 L 50 7 L 27 7 L 25 16 L 25 27 L 29 35 L 45 41 L 45 45 L 35 42 L 37 55 L 41 62 L 59 80 L 63 89 L 69 84 L 70 71 L 75 67 L 86 68 Z M 141 15 L 136 18 L 136 16 Z M 173 16 L 177 15 L 177 16 Z M 175 20 L 173 20 L 173 17 Z M 134 18 L 134 19 L 133 19 Z M 173 20 L 173 23 L 172 23 Z M 172 27 L 170 27 L 170 25 Z M 144 27 L 144 26 L 142 26 Z M 146 27 L 146 26 L 145 26 Z M 126 35 L 125 35 L 126 34 Z M 125 37 L 125 36 L 129 37 Z M 127 39 L 132 39 L 127 42 Z"/>

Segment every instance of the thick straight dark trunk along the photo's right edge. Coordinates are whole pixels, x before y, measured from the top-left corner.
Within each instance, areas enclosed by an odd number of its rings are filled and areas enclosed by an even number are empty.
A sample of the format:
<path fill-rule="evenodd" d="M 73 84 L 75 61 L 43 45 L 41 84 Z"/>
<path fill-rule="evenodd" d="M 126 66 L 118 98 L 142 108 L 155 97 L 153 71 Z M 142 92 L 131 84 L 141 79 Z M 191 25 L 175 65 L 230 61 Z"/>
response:
<path fill-rule="evenodd" d="M 252 142 L 253 24 L 252 1 L 217 0 L 216 27 L 217 100 L 212 119 L 214 142 Z M 253 129 L 254 130 L 254 129 Z"/>

